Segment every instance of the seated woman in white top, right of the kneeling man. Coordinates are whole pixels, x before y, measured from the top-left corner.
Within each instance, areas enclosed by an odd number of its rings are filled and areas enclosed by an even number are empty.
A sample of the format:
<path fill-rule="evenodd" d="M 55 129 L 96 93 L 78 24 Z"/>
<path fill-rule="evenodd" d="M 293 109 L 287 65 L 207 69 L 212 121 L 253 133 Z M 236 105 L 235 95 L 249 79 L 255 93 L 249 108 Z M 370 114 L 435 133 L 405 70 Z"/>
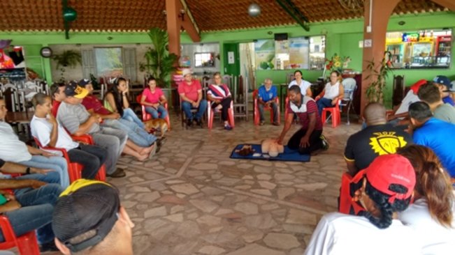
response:
<path fill-rule="evenodd" d="M 324 97 L 321 98 L 322 94 L 324 94 Z M 340 72 L 332 71 L 330 73 L 330 82 L 327 82 L 324 90 L 316 97 L 319 114 L 322 113 L 322 109 L 325 107 L 334 107 L 338 99 L 342 99 L 344 96 L 345 90 L 341 84 Z"/>

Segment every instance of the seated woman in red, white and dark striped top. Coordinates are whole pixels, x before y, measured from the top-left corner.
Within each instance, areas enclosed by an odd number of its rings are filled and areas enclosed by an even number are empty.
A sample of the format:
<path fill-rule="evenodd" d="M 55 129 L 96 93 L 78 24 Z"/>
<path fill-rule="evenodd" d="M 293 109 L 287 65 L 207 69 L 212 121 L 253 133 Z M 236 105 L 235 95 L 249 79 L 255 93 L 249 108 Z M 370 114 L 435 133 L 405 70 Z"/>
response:
<path fill-rule="evenodd" d="M 212 109 L 221 111 L 221 118 L 224 121 L 224 129 L 232 130 L 228 122 L 228 109 L 231 107 L 232 97 L 226 84 L 222 84 L 222 78 L 219 72 L 213 75 L 215 84 L 208 86 L 207 98 L 212 102 Z"/>

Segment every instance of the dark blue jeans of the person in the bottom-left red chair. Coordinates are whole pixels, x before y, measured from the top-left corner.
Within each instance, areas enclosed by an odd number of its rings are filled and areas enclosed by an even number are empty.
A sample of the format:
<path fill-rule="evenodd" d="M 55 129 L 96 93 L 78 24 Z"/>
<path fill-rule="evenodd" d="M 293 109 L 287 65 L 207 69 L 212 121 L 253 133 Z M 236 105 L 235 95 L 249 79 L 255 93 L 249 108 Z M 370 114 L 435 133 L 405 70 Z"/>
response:
<path fill-rule="evenodd" d="M 15 178 L 17 180 L 52 180 L 59 181 L 59 176 L 55 172 L 48 174 L 29 174 Z M 22 208 L 5 212 L 14 233 L 19 236 L 32 231 L 37 233 L 40 244 L 52 242 L 54 233 L 52 231 L 52 212 L 59 194 L 63 192 L 62 187 L 57 183 L 43 185 L 38 189 L 24 188 L 15 190 L 15 198 Z M 3 242 L 3 233 L 0 233 L 0 241 Z"/>

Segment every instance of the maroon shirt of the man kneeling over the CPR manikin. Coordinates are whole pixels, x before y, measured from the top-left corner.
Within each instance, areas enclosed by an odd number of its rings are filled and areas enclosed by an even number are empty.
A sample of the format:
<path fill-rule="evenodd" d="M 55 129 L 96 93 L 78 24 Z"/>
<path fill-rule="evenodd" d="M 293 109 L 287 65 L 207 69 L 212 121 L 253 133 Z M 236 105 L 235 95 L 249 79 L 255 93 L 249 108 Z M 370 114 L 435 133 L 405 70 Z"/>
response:
<path fill-rule="evenodd" d="M 289 104 L 287 105 L 288 114 L 294 112 L 294 114 L 300 118 L 300 123 L 302 124 L 303 129 L 308 129 L 308 125 L 310 124 L 310 118 L 308 115 L 316 114 L 315 130 L 322 130 L 322 121 L 321 117 L 319 117 L 315 100 L 304 95 L 302 95 L 302 100 L 303 102 L 300 108 L 297 105 L 294 105 L 293 102 L 289 101 Z"/>

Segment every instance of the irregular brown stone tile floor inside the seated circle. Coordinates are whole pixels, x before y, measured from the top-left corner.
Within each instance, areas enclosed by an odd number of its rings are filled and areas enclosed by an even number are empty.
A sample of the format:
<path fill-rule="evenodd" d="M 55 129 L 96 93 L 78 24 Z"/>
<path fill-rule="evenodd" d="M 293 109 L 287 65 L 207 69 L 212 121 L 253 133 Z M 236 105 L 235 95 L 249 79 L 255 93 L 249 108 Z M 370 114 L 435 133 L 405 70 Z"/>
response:
<path fill-rule="evenodd" d="M 127 177 L 108 180 L 136 224 L 134 254 L 303 254 L 320 217 L 336 210 L 345 142 L 361 128 L 326 124 L 327 151 L 306 163 L 270 162 L 229 155 L 237 144 L 277 137 L 282 125 L 236 120 L 231 131 L 218 122 L 184 130 L 171 119 L 157 156 L 122 157 Z"/>

